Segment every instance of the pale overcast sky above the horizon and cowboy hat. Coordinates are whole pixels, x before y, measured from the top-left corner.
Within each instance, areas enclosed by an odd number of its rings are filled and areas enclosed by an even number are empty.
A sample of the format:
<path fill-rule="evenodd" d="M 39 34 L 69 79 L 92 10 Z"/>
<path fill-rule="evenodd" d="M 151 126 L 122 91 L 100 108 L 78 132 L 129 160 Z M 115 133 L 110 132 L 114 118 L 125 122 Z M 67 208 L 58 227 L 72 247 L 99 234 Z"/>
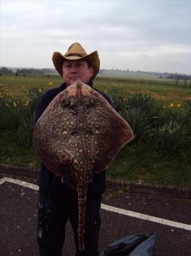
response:
<path fill-rule="evenodd" d="M 191 74 L 191 1 L 1 0 L 1 66 L 53 68 L 74 42 L 102 69 Z"/>

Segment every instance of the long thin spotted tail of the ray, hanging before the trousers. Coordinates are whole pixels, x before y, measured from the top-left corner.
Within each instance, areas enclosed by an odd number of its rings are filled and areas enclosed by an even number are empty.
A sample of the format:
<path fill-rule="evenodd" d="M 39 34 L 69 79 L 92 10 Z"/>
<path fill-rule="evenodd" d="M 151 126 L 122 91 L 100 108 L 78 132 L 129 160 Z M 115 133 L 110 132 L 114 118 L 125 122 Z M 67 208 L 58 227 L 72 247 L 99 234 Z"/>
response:
<path fill-rule="evenodd" d="M 86 220 L 86 195 L 87 184 L 78 184 L 78 238 L 79 250 L 84 250 L 84 233 L 85 233 L 85 220 Z"/>

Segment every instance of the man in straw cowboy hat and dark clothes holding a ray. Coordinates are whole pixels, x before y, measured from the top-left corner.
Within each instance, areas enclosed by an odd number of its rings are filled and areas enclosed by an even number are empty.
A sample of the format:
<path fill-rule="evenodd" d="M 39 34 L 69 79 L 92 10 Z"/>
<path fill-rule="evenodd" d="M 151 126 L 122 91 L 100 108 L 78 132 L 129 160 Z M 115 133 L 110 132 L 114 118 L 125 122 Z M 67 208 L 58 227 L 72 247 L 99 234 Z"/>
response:
<path fill-rule="evenodd" d="M 74 84 L 77 80 L 92 87 L 92 80 L 99 72 L 100 66 L 97 51 L 88 55 L 79 43 L 72 44 L 65 55 L 54 52 L 53 63 L 58 73 L 63 77 L 64 83 L 59 88 L 50 89 L 43 94 L 36 107 L 33 127 L 53 98 L 62 90 Z M 112 105 L 106 94 L 99 93 Z M 92 182 L 88 185 L 85 247 L 84 251 L 80 251 L 78 245 L 78 193 L 68 184 L 62 183 L 61 177 L 54 175 L 42 163 L 39 180 L 39 218 L 37 222 L 37 242 L 40 255 L 61 255 L 68 218 L 74 231 L 77 249 L 75 255 L 99 255 L 100 204 L 104 191 L 105 171 L 94 174 Z"/>

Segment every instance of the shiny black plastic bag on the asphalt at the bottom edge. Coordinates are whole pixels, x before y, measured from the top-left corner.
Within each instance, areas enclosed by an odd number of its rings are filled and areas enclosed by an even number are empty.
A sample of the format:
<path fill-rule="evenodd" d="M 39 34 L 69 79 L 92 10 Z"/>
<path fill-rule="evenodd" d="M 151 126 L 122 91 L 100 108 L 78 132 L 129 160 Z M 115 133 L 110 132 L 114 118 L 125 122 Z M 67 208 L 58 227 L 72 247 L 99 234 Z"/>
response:
<path fill-rule="evenodd" d="M 117 240 L 100 256 L 152 256 L 156 242 L 156 233 L 133 234 Z"/>

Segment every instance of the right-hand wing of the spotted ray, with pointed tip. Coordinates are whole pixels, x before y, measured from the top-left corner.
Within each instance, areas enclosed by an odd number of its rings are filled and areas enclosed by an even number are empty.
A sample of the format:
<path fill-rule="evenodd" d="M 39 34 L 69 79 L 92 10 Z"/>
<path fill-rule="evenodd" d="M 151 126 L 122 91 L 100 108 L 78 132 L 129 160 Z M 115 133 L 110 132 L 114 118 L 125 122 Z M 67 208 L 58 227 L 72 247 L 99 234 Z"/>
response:
<path fill-rule="evenodd" d="M 95 105 L 86 111 L 86 119 L 94 138 L 90 138 L 87 144 L 90 144 L 92 152 L 92 170 L 97 173 L 112 163 L 121 148 L 134 138 L 134 134 L 103 96 L 94 91 L 91 97 Z"/>

